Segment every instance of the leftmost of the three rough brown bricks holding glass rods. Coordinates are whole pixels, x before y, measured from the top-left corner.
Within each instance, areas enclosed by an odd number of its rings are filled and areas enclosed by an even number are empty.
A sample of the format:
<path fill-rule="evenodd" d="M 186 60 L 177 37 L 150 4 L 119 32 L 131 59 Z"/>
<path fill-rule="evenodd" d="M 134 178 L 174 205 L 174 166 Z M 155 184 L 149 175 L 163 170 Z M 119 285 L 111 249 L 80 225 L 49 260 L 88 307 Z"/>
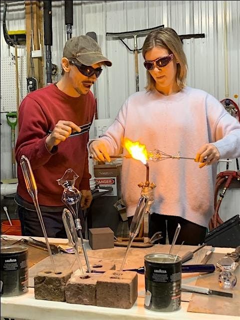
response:
<path fill-rule="evenodd" d="M 65 285 L 72 271 L 51 272 L 43 270 L 34 277 L 35 299 L 65 301 Z"/>

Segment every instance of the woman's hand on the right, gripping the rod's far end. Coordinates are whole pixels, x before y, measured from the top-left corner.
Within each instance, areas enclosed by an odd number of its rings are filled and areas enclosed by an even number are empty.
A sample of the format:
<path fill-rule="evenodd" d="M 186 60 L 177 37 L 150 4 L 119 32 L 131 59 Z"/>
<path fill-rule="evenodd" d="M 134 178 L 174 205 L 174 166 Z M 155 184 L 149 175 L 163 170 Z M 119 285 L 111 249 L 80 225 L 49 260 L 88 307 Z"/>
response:
<path fill-rule="evenodd" d="M 204 144 L 197 152 L 195 161 L 201 162 L 199 168 L 211 165 L 220 158 L 219 150 L 211 143 Z"/>

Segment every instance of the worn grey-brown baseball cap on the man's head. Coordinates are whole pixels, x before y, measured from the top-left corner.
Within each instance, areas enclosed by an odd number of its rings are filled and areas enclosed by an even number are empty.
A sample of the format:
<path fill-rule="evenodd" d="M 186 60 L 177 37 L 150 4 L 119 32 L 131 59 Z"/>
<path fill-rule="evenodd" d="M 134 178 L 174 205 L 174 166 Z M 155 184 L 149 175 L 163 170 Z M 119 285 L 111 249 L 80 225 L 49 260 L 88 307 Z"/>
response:
<path fill-rule="evenodd" d="M 79 35 L 68 39 L 63 49 L 63 57 L 77 59 L 85 65 L 103 62 L 108 67 L 112 62 L 103 54 L 98 43 L 88 35 Z"/>

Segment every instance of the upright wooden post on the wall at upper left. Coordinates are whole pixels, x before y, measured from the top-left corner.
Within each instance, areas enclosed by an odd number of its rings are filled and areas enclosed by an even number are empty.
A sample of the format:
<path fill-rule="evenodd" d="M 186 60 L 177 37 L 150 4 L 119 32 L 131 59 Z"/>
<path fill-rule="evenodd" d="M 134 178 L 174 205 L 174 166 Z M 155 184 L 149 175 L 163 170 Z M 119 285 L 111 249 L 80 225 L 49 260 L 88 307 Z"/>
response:
<path fill-rule="evenodd" d="M 26 19 L 26 54 L 27 54 L 27 77 L 37 80 L 37 87 L 45 86 L 44 82 L 44 44 L 43 44 L 43 10 L 40 1 L 25 1 Z M 40 43 L 39 36 L 40 33 Z M 39 50 L 41 44 L 41 56 L 31 57 L 31 51 Z"/>

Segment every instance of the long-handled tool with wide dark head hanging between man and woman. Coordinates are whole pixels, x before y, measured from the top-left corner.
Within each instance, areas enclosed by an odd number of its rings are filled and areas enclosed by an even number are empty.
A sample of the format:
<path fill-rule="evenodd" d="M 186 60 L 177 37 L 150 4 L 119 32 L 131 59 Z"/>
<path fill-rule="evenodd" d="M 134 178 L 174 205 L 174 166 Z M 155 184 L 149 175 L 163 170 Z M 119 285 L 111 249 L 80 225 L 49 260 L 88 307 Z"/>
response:
<path fill-rule="evenodd" d="M 136 31 L 127 31 L 127 32 L 107 32 L 106 36 L 117 38 L 128 48 L 129 51 L 134 52 L 135 56 L 135 77 L 136 77 L 136 91 L 139 91 L 139 73 L 138 73 L 138 53 L 142 50 L 142 48 L 138 48 L 137 38 L 139 36 L 145 36 L 149 32 L 163 28 L 164 25 L 160 25 L 157 27 L 143 29 L 143 30 L 136 30 Z M 123 39 L 126 38 L 134 38 L 134 49 L 130 49 L 126 42 Z"/>

